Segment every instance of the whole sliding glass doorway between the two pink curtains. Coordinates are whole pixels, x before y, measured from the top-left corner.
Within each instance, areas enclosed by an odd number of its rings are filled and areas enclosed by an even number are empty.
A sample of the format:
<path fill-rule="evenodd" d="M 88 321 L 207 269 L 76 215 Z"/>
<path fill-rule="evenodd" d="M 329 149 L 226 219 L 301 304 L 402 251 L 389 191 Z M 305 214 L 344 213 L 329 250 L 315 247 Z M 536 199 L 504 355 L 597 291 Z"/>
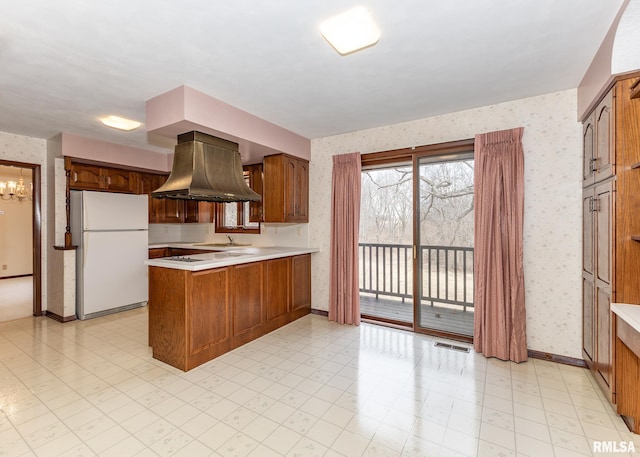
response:
<path fill-rule="evenodd" d="M 471 341 L 473 142 L 448 146 L 363 160 L 360 311 L 365 320 Z"/>

